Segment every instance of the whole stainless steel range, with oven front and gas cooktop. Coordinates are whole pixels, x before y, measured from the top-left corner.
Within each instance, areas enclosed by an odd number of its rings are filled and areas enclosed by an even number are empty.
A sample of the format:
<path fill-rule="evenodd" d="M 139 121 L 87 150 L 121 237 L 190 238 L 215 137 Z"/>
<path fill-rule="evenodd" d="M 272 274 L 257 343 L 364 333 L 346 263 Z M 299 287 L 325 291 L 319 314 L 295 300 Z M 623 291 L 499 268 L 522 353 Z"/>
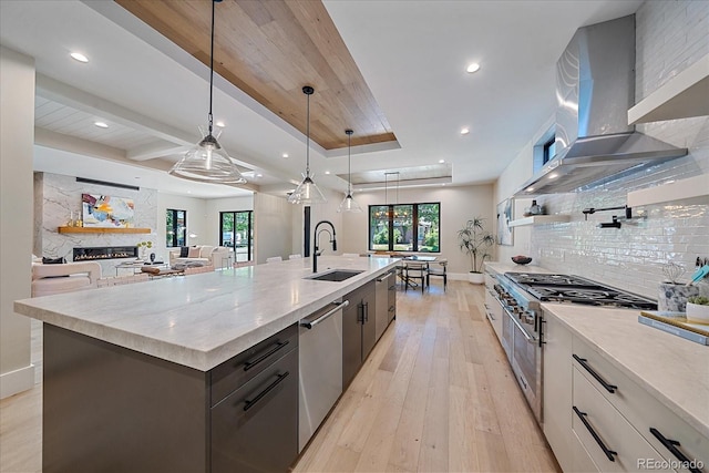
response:
<path fill-rule="evenodd" d="M 569 275 L 505 273 L 495 291 L 504 309 L 502 346 L 534 415 L 542 422 L 541 304 L 585 304 L 656 310 L 651 299 Z"/>

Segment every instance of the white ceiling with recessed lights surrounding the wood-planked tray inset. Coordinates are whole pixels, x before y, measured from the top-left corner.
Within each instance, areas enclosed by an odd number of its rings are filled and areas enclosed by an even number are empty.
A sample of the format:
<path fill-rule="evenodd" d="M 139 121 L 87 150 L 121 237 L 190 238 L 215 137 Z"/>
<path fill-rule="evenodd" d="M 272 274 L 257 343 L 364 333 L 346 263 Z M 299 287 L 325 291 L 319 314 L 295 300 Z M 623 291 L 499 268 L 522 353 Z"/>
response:
<path fill-rule="evenodd" d="M 444 160 L 452 185 L 494 181 L 553 114 L 554 65 L 574 31 L 640 3 L 326 0 L 401 144 L 352 148 L 352 173 Z M 114 2 L 0 0 L 0 42 L 35 58 L 38 171 L 60 172 L 61 156 L 62 174 L 105 181 L 110 160 L 113 182 L 202 197 L 245 193 L 165 174 L 206 124 L 208 69 Z M 469 62 L 481 70 L 465 73 Z M 215 86 L 222 145 L 253 169 L 253 188 L 285 195 L 305 167 L 305 137 L 218 76 Z M 461 135 L 463 126 L 471 133 Z M 54 156 L 58 147 L 65 153 Z M 310 160 L 319 185 L 345 189 L 337 175 L 347 174 L 346 150 L 312 144 Z"/>

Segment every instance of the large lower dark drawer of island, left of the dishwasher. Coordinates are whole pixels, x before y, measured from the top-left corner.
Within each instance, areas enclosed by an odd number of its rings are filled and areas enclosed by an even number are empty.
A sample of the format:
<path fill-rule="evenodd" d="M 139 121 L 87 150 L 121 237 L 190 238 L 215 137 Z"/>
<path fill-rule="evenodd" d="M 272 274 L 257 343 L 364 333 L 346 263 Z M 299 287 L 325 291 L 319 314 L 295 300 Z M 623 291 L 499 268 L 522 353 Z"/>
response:
<path fill-rule="evenodd" d="M 287 471 L 298 456 L 298 351 L 261 370 L 210 413 L 212 472 Z"/>

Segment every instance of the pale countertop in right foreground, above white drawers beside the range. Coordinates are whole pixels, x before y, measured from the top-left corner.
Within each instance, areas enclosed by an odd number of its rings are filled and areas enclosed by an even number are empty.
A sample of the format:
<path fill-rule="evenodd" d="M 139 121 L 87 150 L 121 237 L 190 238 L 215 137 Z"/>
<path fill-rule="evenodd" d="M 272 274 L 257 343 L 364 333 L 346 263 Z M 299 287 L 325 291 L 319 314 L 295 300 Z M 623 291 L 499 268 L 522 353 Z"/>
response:
<path fill-rule="evenodd" d="M 638 310 L 543 304 L 604 359 L 709 438 L 709 347 L 638 322 Z"/>

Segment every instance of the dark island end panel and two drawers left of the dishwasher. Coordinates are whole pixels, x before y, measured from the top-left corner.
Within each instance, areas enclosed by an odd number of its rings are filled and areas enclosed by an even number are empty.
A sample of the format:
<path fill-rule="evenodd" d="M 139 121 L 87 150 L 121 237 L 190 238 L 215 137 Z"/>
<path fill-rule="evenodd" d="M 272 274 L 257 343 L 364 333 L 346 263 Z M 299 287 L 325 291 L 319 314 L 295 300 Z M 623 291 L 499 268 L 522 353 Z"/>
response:
<path fill-rule="evenodd" d="M 44 325 L 44 472 L 286 471 L 294 325 L 204 372 Z"/>

